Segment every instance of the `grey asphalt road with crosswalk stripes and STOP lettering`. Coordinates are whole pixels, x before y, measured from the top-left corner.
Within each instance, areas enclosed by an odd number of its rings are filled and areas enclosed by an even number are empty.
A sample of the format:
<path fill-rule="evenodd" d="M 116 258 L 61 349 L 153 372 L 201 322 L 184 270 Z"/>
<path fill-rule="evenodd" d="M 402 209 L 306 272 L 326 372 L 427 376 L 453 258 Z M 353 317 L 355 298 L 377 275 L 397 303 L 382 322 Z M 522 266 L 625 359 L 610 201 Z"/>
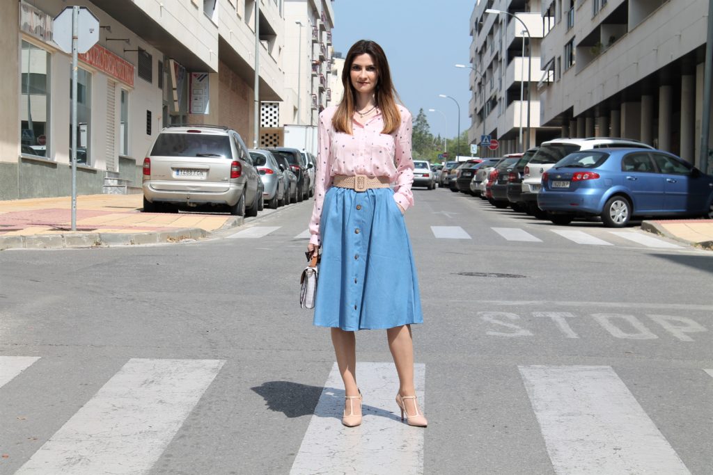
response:
<path fill-rule="evenodd" d="M 339 424 L 298 306 L 309 201 L 206 241 L 1 252 L 0 474 L 713 472 L 713 254 L 414 194 L 428 428 L 396 418 L 383 331 Z"/>

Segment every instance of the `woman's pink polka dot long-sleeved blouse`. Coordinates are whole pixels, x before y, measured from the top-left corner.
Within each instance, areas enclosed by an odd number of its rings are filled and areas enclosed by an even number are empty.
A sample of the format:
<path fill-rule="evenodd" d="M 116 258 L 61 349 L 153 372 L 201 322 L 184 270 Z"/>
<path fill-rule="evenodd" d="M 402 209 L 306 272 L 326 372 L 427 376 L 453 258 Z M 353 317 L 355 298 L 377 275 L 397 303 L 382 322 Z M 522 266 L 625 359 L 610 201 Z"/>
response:
<path fill-rule="evenodd" d="M 392 134 L 382 134 L 381 113 L 361 124 L 352 121 L 354 135 L 336 132 L 332 117 L 336 106 L 319 114 L 317 132 L 317 172 L 314 184 L 314 210 L 309 220 L 309 242 L 319 246 L 319 218 L 322 216 L 324 194 L 336 175 L 365 174 L 369 177 L 389 177 L 394 183 L 394 201 L 404 209 L 414 204 L 411 185 L 414 183 L 414 159 L 411 157 L 411 113 L 400 105 L 401 125 Z"/>

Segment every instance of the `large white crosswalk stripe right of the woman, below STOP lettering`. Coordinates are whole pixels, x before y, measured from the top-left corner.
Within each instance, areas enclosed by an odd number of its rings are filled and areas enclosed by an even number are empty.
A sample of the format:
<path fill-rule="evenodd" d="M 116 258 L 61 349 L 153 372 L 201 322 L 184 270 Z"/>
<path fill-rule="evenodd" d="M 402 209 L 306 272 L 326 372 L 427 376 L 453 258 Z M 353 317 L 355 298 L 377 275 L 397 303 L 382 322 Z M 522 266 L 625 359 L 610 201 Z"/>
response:
<path fill-rule="evenodd" d="M 558 474 L 689 474 L 609 366 L 520 366 Z"/>

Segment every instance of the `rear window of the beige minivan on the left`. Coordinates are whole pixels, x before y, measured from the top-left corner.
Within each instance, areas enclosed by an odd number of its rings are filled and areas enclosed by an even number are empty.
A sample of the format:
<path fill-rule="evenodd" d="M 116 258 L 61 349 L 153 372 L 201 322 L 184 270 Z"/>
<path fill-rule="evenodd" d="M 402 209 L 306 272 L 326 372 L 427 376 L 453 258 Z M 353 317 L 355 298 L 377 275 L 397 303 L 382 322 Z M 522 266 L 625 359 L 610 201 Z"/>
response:
<path fill-rule="evenodd" d="M 195 133 L 159 134 L 151 155 L 165 157 L 225 157 L 230 159 L 230 139 L 227 135 Z"/>

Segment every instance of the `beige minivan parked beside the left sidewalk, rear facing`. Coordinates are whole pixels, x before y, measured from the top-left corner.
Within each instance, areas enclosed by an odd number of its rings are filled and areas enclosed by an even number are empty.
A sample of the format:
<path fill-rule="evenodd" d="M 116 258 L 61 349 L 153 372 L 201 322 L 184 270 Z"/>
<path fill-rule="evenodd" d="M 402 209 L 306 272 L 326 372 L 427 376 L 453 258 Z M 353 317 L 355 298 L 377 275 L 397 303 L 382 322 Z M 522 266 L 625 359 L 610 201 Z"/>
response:
<path fill-rule="evenodd" d="M 165 127 L 143 160 L 143 211 L 227 206 L 257 216 L 262 182 L 240 134 L 228 127 Z"/>

